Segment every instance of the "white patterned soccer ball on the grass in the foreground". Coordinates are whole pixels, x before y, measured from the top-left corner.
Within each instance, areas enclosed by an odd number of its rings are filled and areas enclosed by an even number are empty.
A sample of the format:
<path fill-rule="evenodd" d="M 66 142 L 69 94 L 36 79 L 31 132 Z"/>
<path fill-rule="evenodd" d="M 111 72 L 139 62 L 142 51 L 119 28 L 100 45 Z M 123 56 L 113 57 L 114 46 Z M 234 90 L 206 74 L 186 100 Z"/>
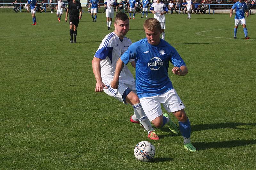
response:
<path fill-rule="evenodd" d="M 134 148 L 134 155 L 136 159 L 148 162 L 155 156 L 155 146 L 147 141 L 139 142 Z"/>

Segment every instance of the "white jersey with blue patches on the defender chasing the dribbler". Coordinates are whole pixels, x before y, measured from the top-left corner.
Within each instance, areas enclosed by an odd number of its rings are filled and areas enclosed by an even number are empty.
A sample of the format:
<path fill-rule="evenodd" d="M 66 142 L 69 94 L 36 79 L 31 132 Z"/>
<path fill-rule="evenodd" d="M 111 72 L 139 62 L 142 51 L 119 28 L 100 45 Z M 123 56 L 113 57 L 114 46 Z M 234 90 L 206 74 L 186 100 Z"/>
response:
<path fill-rule="evenodd" d="M 116 62 L 131 44 L 132 41 L 130 39 L 124 37 L 123 41 L 121 41 L 114 32 L 111 32 L 110 34 L 106 35 L 106 37 L 102 40 L 94 57 L 102 59 L 100 61 L 100 72 L 102 82 L 104 84 L 109 84 L 113 80 L 116 69 Z M 131 61 L 134 61 L 134 59 L 130 60 L 129 62 Z M 126 65 L 121 71 L 119 81 L 135 81 L 132 73 L 130 72 Z"/>

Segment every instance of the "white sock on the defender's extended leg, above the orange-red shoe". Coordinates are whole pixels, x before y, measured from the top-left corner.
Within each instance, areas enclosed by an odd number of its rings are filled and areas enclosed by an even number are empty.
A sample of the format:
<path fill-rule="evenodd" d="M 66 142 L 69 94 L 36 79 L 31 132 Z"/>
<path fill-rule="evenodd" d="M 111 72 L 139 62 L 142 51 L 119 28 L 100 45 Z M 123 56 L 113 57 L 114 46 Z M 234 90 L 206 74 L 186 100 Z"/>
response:
<path fill-rule="evenodd" d="M 142 106 L 140 103 L 132 105 L 134 113 L 136 117 L 139 119 L 140 123 L 144 128 L 148 131 L 148 134 L 151 131 L 154 131 L 154 129 L 151 126 L 151 122 L 148 120 L 148 117 L 146 116 L 144 110 L 142 109 Z"/>

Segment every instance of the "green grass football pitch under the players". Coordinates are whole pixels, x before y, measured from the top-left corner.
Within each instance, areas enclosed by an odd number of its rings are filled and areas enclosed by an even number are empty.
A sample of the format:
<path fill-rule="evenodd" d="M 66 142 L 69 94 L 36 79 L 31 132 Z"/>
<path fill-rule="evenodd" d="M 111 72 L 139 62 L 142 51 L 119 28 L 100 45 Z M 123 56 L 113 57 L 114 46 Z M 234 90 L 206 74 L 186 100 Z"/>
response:
<path fill-rule="evenodd" d="M 143 163 L 133 150 L 149 139 L 129 122 L 132 107 L 94 92 L 91 61 L 110 32 L 105 14 L 93 23 L 84 13 L 70 44 L 69 25 L 55 14 L 36 13 L 34 26 L 31 14 L 1 10 L 0 169 L 255 169 L 256 15 L 246 18 L 249 40 L 241 25 L 233 39 L 228 14 L 166 16 L 166 41 L 188 67 L 185 77 L 169 76 L 198 151 L 164 127 L 150 141 L 155 158 Z M 135 17 L 132 42 L 145 37 L 145 18 Z"/>

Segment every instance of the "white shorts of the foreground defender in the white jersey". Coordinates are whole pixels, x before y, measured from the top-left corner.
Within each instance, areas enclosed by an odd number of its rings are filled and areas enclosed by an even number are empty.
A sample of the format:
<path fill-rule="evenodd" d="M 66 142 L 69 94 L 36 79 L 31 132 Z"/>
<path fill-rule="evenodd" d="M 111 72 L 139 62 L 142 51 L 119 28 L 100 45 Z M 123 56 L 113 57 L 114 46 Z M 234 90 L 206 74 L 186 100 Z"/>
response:
<path fill-rule="evenodd" d="M 136 91 L 136 87 L 135 87 L 135 81 L 132 81 L 132 82 L 119 82 L 118 84 L 118 88 L 117 89 L 112 89 L 112 87 L 110 86 L 110 83 L 107 83 L 105 84 L 106 86 L 108 86 L 108 89 L 103 89 L 104 92 L 109 95 L 109 96 L 112 96 L 114 98 L 116 98 L 117 100 L 119 100 L 120 102 L 124 102 L 125 98 L 126 98 L 126 95 L 124 94 L 124 91 L 129 88 L 131 91 L 133 91 L 134 93 L 137 94 L 137 91 Z M 124 94 L 124 96 L 123 96 Z M 124 99 L 123 99 L 124 97 Z M 126 103 L 125 103 L 126 104 Z"/>

